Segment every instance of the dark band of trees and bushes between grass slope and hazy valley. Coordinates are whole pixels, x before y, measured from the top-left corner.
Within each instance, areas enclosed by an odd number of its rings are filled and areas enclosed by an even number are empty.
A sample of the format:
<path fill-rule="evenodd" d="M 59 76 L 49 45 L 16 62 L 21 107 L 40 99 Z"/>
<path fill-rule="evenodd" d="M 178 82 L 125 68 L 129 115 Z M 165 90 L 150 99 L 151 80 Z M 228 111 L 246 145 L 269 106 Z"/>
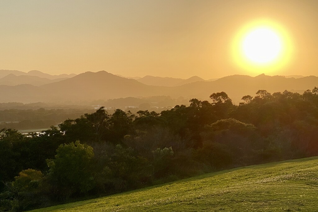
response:
<path fill-rule="evenodd" d="M 39 135 L 0 131 L 0 209 L 26 210 L 220 169 L 318 155 L 318 88 L 161 113 L 103 107 Z"/>

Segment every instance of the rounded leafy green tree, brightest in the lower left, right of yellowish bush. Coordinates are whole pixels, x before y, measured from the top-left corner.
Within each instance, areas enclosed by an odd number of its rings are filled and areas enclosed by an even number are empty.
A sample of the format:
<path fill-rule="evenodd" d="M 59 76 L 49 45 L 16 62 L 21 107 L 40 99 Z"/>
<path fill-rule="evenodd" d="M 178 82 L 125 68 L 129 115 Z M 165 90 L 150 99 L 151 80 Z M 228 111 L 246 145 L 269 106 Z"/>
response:
<path fill-rule="evenodd" d="M 93 148 L 76 141 L 61 144 L 54 159 L 47 160 L 49 181 L 55 194 L 68 198 L 93 188 Z"/>

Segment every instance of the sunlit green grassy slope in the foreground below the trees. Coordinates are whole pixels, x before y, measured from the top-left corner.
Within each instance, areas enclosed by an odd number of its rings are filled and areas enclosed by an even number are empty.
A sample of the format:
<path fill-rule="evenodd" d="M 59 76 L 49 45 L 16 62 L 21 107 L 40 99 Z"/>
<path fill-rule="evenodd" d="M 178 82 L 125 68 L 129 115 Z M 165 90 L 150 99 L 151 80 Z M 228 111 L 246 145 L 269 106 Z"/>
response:
<path fill-rule="evenodd" d="M 235 168 L 33 211 L 318 211 L 318 157 Z"/>

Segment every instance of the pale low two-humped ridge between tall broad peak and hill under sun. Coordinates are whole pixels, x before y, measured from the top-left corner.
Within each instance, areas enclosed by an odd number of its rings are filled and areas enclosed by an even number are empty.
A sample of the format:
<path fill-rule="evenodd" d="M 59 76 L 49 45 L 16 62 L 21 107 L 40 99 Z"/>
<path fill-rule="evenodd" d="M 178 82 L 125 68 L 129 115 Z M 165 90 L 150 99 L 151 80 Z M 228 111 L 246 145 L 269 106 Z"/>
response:
<path fill-rule="evenodd" d="M 180 78 L 172 78 L 172 77 L 154 77 L 154 76 L 148 75 L 143 78 L 137 79 L 137 81 L 145 85 L 173 87 L 173 86 L 184 85 L 187 83 L 205 81 L 205 80 L 198 76 L 193 76 L 193 77 L 190 77 L 189 79 L 180 79 Z"/>

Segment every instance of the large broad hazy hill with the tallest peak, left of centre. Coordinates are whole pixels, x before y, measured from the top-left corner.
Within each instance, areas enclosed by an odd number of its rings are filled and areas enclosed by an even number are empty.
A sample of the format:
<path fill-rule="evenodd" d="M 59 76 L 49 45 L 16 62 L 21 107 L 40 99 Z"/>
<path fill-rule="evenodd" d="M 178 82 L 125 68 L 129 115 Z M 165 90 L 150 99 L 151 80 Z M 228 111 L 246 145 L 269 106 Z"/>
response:
<path fill-rule="evenodd" d="M 135 79 L 127 79 L 114 74 L 85 72 L 73 78 L 40 86 L 59 93 L 61 99 L 94 100 L 124 97 L 153 96 L 168 92 L 168 88 L 144 85 Z"/>

